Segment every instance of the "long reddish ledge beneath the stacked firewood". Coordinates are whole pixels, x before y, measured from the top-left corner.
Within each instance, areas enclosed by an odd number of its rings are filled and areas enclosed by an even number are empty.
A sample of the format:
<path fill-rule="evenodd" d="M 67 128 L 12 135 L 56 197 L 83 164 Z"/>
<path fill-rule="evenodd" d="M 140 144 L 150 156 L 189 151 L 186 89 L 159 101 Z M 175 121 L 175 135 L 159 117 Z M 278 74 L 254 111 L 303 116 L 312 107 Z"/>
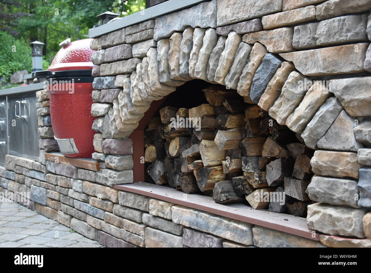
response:
<path fill-rule="evenodd" d="M 308 230 L 306 225 L 306 218 L 296 217 L 290 214 L 271 212 L 265 209 L 255 210 L 244 204 L 218 204 L 210 196 L 200 194 L 184 194 L 184 192 L 177 191 L 173 188 L 145 182 L 114 185 L 113 187 L 122 191 L 150 196 L 178 205 L 200 209 L 202 211 L 229 217 L 235 220 L 260 225 L 319 241 L 320 234 L 316 233 L 315 237 L 312 237 L 312 231 Z"/>

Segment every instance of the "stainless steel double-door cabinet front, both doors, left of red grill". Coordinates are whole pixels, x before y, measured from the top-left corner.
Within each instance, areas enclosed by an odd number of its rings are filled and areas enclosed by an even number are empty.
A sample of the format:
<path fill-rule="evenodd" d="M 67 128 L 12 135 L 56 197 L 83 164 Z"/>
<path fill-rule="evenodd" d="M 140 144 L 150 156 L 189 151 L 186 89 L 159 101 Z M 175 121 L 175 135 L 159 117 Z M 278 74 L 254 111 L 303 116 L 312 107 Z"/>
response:
<path fill-rule="evenodd" d="M 12 155 L 38 159 L 36 103 L 35 92 L 22 94 L 22 97 L 8 97 L 8 144 Z"/>

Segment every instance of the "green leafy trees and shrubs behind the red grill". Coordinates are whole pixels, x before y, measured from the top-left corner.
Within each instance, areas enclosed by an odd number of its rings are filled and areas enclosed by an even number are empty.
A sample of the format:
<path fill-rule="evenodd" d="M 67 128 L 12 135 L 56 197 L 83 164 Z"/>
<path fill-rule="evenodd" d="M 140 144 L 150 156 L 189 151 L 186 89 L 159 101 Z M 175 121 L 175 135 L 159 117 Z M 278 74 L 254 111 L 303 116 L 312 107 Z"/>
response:
<path fill-rule="evenodd" d="M 144 8 L 145 0 L 0 0 L 0 30 L 13 35 L 19 46 L 35 40 L 45 43 L 45 69 L 60 49 L 60 42 L 67 38 L 72 41 L 87 38 L 88 30 L 100 23 L 96 17 L 98 14 L 112 11 L 124 17 Z M 4 43 L 3 39 L 1 41 L 1 46 L 4 46 L 0 50 L 1 58 L 10 58 L 3 56 L 3 52 L 7 52 L 8 45 L 15 42 L 9 44 Z M 18 69 L 19 65 L 30 58 L 30 53 L 27 58 L 24 54 L 22 59 L 14 60 L 16 65 L 1 62 L 0 67 L 9 66 L 6 69 L 9 74 L 9 71 L 16 71 L 15 67 Z M 20 69 L 30 70 L 29 66 L 24 65 Z M 4 73 L 5 68 L 0 70 L 0 75 Z"/>

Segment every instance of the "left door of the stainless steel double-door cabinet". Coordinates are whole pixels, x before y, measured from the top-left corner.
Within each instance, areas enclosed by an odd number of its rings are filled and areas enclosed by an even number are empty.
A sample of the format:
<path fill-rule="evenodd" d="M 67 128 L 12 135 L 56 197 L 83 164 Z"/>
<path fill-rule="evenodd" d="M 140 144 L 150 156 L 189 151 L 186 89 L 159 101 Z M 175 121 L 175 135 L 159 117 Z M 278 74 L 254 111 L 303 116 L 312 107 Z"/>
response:
<path fill-rule="evenodd" d="M 9 153 L 13 155 L 23 154 L 23 124 L 20 111 L 22 110 L 22 97 L 8 98 L 8 134 Z"/>

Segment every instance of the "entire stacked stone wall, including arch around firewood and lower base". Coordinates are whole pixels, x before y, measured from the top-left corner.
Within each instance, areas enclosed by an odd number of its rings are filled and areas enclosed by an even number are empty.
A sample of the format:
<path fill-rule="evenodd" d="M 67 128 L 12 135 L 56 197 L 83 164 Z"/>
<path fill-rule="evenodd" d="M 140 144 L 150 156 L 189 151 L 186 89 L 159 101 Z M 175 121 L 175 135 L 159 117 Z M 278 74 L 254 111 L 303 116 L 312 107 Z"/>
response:
<path fill-rule="evenodd" d="M 29 187 L 36 210 L 107 246 L 370 247 L 370 9 L 371 0 L 213 0 L 95 38 L 101 170 L 47 161 L 43 180 L 32 177 L 36 162 L 7 157 L 1 186 Z M 112 188 L 133 181 L 128 136 L 151 102 L 191 79 L 236 90 L 316 149 L 307 222 L 322 244 Z"/>

